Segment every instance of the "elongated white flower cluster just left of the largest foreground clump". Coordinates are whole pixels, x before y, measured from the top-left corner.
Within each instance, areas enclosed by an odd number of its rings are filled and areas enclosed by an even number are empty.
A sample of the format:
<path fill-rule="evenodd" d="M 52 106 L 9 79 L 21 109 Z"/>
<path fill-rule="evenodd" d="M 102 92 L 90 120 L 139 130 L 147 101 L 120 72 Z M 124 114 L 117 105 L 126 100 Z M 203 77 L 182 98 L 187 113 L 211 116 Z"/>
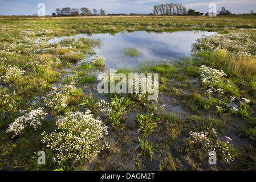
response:
<path fill-rule="evenodd" d="M 31 110 L 30 113 L 18 117 L 13 123 L 9 125 L 7 132 L 13 131 L 15 135 L 13 138 L 22 133 L 27 127 L 31 126 L 34 129 L 38 129 L 42 125 L 41 121 L 46 117 L 47 113 L 44 113 L 43 107 L 39 107 L 36 110 Z"/>

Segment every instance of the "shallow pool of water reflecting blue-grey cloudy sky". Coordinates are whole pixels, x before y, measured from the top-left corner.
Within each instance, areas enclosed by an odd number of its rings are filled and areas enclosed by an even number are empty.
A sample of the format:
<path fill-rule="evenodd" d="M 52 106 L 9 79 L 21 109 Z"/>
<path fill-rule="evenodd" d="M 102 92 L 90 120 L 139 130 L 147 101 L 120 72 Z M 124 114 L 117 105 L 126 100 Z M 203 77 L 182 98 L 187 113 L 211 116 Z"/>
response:
<path fill-rule="evenodd" d="M 88 38 L 99 38 L 100 48 L 95 48 L 96 55 L 105 57 L 107 69 L 119 67 L 136 67 L 141 61 L 180 59 L 188 57 L 192 43 L 202 36 L 210 36 L 214 32 L 180 31 L 162 32 L 161 34 L 147 31 L 111 34 L 93 34 Z M 88 36 L 79 34 L 76 36 Z M 135 48 L 139 56 L 124 56 L 127 48 Z"/>

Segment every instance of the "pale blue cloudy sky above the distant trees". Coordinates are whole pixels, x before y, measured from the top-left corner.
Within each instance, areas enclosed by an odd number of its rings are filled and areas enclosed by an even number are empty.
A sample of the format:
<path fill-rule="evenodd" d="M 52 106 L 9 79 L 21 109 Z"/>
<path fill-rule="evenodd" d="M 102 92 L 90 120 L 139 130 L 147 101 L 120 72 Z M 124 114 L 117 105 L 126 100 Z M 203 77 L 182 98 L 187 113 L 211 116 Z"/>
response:
<path fill-rule="evenodd" d="M 182 3 L 187 10 L 194 9 L 201 13 L 207 13 L 212 9 L 212 6 L 209 7 L 210 3 L 216 4 L 217 11 L 225 7 L 235 14 L 250 13 L 251 10 L 256 13 L 256 0 L 0 0 L 0 15 L 33 15 L 42 8 L 42 6 L 38 7 L 39 3 L 44 3 L 46 15 L 51 15 L 56 8 L 62 9 L 62 7 L 71 7 L 71 9 L 87 7 L 91 11 L 104 9 L 107 14 L 150 14 L 154 5 L 162 3 Z"/>

